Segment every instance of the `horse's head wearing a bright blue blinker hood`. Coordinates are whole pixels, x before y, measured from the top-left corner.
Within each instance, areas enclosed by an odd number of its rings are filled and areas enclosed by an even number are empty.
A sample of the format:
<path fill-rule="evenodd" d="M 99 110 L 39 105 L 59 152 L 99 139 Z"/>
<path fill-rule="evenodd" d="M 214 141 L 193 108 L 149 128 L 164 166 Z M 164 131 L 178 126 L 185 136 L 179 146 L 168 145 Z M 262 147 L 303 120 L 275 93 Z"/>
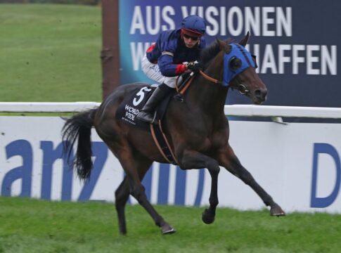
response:
<path fill-rule="evenodd" d="M 223 82 L 232 89 L 248 96 L 253 103 L 261 104 L 266 100 L 267 89 L 256 73 L 256 59 L 245 45 L 249 39 L 249 32 L 238 44 L 228 44 L 219 39 L 221 51 L 224 51 Z"/>

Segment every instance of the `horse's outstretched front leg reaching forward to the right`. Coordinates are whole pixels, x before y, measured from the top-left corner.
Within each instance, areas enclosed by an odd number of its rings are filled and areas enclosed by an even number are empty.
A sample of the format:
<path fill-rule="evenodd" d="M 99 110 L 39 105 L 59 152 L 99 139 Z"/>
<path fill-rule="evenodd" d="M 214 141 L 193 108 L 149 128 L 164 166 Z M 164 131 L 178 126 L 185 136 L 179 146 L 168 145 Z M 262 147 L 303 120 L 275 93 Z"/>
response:
<path fill-rule="evenodd" d="M 272 197 L 266 193 L 266 191 L 259 186 L 259 184 L 255 181 L 253 176 L 250 174 L 247 169 L 240 164 L 238 157 L 236 157 L 233 152 L 231 146 L 227 146 L 226 148 L 222 148 L 219 150 L 219 164 L 225 167 L 228 171 L 230 171 L 233 175 L 237 176 L 244 183 L 250 186 L 257 195 L 263 200 L 264 204 L 270 207 L 270 214 L 276 216 L 285 215 L 283 209 L 272 199 Z"/>

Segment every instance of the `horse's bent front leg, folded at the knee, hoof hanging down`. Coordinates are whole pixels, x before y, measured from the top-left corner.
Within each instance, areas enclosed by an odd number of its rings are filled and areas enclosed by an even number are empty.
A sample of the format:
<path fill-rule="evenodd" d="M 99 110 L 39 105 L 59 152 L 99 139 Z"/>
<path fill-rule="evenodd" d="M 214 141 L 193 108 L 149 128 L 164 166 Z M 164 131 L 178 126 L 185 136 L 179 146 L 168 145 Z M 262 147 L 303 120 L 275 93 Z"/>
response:
<path fill-rule="evenodd" d="M 210 207 L 202 213 L 202 221 L 210 224 L 214 221 L 218 201 L 218 175 L 220 171 L 217 160 L 203 155 L 194 150 L 186 150 L 182 156 L 179 165 L 181 169 L 203 169 L 207 168 L 210 172 L 212 183 L 210 193 Z"/>

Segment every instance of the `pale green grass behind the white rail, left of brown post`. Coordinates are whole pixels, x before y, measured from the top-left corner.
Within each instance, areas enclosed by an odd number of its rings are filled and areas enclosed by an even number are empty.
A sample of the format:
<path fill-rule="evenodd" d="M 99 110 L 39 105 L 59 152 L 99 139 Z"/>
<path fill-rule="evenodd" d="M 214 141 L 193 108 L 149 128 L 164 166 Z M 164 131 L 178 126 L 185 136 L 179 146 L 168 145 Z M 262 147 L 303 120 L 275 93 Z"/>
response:
<path fill-rule="evenodd" d="M 0 101 L 101 101 L 101 8 L 0 4 Z"/>

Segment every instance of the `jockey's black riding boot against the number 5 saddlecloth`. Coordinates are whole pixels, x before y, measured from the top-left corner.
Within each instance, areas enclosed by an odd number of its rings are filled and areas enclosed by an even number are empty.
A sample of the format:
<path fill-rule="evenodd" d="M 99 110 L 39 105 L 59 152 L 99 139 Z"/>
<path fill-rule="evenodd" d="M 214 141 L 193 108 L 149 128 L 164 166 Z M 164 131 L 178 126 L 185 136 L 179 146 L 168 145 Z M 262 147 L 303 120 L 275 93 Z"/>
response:
<path fill-rule="evenodd" d="M 152 96 L 148 99 L 146 105 L 143 106 L 142 110 L 137 115 L 137 119 L 143 122 L 153 123 L 154 122 L 154 111 L 156 106 L 172 91 L 172 88 L 166 84 L 160 84 L 157 86 Z"/>

